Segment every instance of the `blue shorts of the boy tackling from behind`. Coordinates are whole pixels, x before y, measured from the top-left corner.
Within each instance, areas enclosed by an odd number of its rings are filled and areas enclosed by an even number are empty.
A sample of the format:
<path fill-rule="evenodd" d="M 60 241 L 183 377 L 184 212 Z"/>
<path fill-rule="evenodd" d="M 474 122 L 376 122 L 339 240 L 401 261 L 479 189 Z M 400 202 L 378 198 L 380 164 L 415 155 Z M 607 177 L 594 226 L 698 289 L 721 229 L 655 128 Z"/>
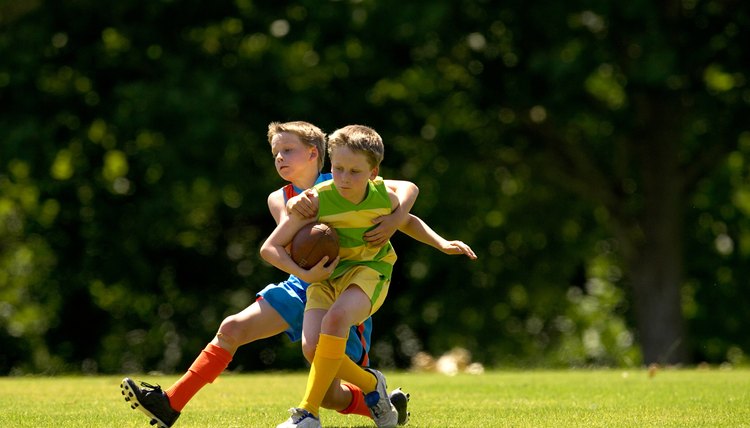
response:
<path fill-rule="evenodd" d="M 289 328 L 285 331 L 292 342 L 302 338 L 302 319 L 307 302 L 307 283 L 291 275 L 289 279 L 278 284 L 269 284 L 256 296 L 263 298 L 284 318 Z M 355 363 L 368 367 L 370 365 L 370 335 L 372 318 L 367 318 L 360 325 L 353 326 L 346 342 L 346 355 Z"/>

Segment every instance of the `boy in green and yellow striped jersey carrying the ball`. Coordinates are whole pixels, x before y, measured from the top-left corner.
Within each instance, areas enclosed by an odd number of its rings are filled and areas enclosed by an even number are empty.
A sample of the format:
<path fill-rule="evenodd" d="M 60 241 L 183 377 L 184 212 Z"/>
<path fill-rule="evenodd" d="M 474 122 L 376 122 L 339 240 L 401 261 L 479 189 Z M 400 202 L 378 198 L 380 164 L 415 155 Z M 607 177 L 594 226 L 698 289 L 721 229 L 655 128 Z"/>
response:
<path fill-rule="evenodd" d="M 312 361 L 305 397 L 292 416 L 278 427 L 320 427 L 319 409 L 334 378 L 357 385 L 378 427 L 395 427 L 398 413 L 388 400 L 385 377 L 344 358 L 348 331 L 375 313 L 390 285 L 396 253 L 390 242 L 369 245 L 364 233 L 373 220 L 398 207 L 396 195 L 378 177 L 383 140 L 372 128 L 349 125 L 328 138 L 333 180 L 313 187 L 307 197 L 317 216 L 291 213 L 261 248 L 272 265 L 310 283 L 303 322 L 303 351 Z M 321 221 L 339 235 L 339 257 L 324 258 L 302 269 L 286 253 L 286 246 L 307 223 Z M 317 345 L 317 346 L 316 346 Z"/>

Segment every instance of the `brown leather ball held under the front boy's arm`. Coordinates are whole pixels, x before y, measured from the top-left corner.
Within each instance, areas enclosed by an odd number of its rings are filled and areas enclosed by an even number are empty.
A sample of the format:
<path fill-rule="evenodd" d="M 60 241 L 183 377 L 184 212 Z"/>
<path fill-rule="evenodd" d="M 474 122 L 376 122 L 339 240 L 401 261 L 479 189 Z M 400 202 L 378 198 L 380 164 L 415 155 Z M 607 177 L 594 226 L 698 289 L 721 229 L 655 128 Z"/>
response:
<path fill-rule="evenodd" d="M 303 269 L 310 269 L 328 256 L 331 263 L 339 255 L 339 236 L 325 223 L 308 223 L 292 239 L 289 255 Z"/>

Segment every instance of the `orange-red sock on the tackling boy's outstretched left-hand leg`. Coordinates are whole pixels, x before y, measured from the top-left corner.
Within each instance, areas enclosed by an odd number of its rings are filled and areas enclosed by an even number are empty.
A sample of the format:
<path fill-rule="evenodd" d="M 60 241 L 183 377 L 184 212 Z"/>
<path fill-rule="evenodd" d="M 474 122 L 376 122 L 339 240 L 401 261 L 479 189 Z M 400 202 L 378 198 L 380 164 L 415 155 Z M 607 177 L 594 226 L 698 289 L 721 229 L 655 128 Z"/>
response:
<path fill-rule="evenodd" d="M 232 361 L 232 354 L 212 343 L 206 345 L 180 380 L 164 391 L 173 409 L 181 412 L 206 384 L 212 383 Z"/>

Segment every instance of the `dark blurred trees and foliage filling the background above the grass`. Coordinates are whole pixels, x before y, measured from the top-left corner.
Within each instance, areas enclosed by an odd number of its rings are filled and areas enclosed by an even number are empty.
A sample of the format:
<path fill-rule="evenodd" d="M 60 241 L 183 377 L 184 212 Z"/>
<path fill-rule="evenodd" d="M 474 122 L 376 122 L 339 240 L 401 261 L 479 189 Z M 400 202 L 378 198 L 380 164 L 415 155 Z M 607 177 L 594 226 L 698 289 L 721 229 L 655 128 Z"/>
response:
<path fill-rule="evenodd" d="M 479 255 L 394 236 L 374 365 L 747 364 L 748 32 L 737 0 L 0 0 L 0 374 L 183 372 L 285 277 L 287 120 L 374 127 Z"/>

